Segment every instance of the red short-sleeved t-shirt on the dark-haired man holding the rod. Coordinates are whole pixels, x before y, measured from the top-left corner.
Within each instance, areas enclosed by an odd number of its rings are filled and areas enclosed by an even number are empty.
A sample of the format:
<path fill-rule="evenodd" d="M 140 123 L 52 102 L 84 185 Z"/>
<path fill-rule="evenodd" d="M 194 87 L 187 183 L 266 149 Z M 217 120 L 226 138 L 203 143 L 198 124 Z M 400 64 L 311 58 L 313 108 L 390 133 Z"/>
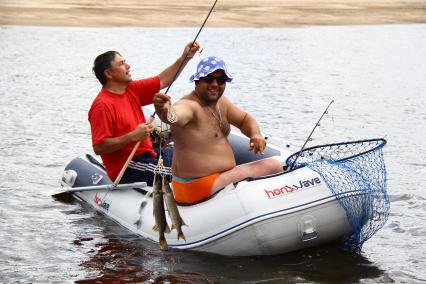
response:
<path fill-rule="evenodd" d="M 106 138 L 119 137 L 134 130 L 145 122 L 142 106 L 151 104 L 154 94 L 160 91 L 160 78 L 152 77 L 132 81 L 124 94 L 114 94 L 102 88 L 89 110 L 89 122 L 92 130 L 92 144 L 103 142 Z M 136 142 L 123 148 L 102 154 L 108 176 L 114 181 L 132 152 Z M 135 157 L 145 152 L 156 156 L 151 139 L 141 141 Z"/>

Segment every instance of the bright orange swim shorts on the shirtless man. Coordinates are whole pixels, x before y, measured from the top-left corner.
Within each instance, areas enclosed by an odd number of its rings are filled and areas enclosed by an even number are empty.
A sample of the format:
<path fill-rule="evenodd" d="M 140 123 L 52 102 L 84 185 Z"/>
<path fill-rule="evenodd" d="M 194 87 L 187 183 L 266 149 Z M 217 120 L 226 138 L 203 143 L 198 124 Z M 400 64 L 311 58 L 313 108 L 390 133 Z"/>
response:
<path fill-rule="evenodd" d="M 182 179 L 173 176 L 172 185 L 176 201 L 192 204 L 207 199 L 210 196 L 213 183 L 219 175 L 220 173 L 213 173 L 195 179 Z"/>

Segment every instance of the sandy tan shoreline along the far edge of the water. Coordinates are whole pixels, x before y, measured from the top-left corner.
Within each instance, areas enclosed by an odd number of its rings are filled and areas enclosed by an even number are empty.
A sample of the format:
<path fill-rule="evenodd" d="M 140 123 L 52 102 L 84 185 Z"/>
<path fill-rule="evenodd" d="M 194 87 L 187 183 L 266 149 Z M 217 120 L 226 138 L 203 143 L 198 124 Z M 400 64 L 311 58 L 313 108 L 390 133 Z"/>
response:
<path fill-rule="evenodd" d="M 141 4 L 143 2 L 143 4 Z M 101 5 L 102 4 L 102 5 Z M 212 1 L 1 0 L 0 25 L 194 27 Z M 426 1 L 221 0 L 208 27 L 297 27 L 426 23 Z"/>

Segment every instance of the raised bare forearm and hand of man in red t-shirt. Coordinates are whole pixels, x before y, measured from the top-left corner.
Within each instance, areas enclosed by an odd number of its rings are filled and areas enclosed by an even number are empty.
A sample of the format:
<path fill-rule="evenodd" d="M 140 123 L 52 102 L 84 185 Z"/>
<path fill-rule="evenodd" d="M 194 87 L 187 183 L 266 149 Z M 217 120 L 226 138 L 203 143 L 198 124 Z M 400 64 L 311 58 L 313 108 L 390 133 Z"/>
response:
<path fill-rule="evenodd" d="M 160 77 L 160 89 L 164 89 L 164 88 L 168 87 L 173 82 L 173 79 L 176 79 L 180 75 L 183 68 L 186 66 L 188 61 L 192 57 L 194 57 L 194 54 L 198 51 L 199 48 L 200 48 L 200 45 L 198 44 L 198 42 L 195 42 L 194 45 L 192 45 L 192 42 L 190 42 L 185 46 L 185 49 L 182 53 L 182 56 L 179 57 L 175 61 L 175 63 L 173 63 L 172 65 L 170 65 L 166 69 L 164 69 L 158 75 Z M 190 50 L 189 53 L 188 53 L 188 50 Z M 187 53 L 188 53 L 188 56 L 185 58 L 185 55 Z M 180 70 L 178 70 L 179 67 L 181 67 Z M 175 76 L 176 76 L 176 78 L 175 78 Z"/>

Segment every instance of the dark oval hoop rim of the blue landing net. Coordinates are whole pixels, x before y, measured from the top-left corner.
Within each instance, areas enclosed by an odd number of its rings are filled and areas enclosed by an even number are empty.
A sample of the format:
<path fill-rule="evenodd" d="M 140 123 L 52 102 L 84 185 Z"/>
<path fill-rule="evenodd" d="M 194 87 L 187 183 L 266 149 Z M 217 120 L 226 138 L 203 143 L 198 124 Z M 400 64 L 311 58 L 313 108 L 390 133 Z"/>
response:
<path fill-rule="evenodd" d="M 292 154 L 291 156 L 289 156 L 286 160 L 286 165 L 288 167 L 290 167 L 293 163 L 293 160 L 296 159 L 298 156 L 301 156 L 303 153 L 305 152 L 311 152 L 312 150 L 318 149 L 318 148 L 327 148 L 327 147 L 335 147 L 335 146 L 341 146 L 341 145 L 350 145 L 350 144 L 362 144 L 362 143 L 371 143 L 371 142 L 376 142 L 376 145 L 374 145 L 374 147 L 372 147 L 369 150 L 366 151 L 362 151 L 360 153 L 348 156 L 348 157 L 344 157 L 338 160 L 335 160 L 335 162 L 341 162 L 341 161 L 345 161 L 348 159 L 353 159 L 355 157 L 361 156 L 361 155 L 365 155 L 368 154 L 370 152 L 376 151 L 382 147 L 384 147 L 387 143 L 386 139 L 384 138 L 373 138 L 373 139 L 364 139 L 364 140 L 356 140 L 356 141 L 349 141 L 349 142 L 340 142 L 340 143 L 332 143 L 332 144 L 323 144 L 323 145 L 317 145 L 317 146 L 313 146 L 313 147 L 309 147 L 309 148 L 305 148 L 302 151 L 298 151 L 294 154 Z M 294 168 L 300 168 L 305 166 L 306 163 L 296 163 L 294 165 Z"/>

